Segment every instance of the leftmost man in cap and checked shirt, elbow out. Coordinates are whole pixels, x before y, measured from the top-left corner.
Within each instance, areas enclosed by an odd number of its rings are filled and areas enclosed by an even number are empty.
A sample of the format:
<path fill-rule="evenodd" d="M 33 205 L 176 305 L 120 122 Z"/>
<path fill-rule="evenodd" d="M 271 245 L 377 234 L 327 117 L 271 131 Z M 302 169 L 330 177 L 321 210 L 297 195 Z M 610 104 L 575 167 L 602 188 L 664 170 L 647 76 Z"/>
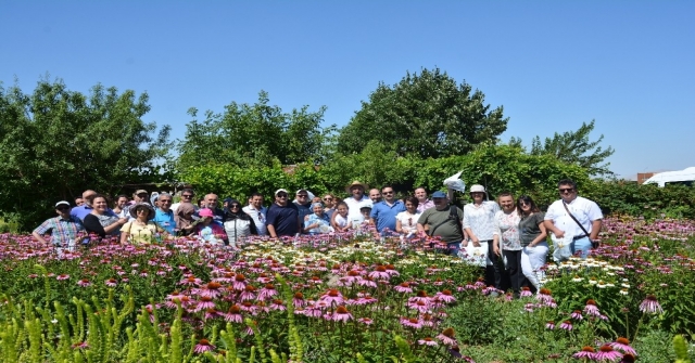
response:
<path fill-rule="evenodd" d="M 81 220 L 71 216 L 70 203 L 61 200 L 55 204 L 55 212 L 58 217 L 47 219 L 41 225 L 37 226 L 31 235 L 36 241 L 48 245 L 43 238 L 47 233 L 51 234 L 51 243 L 58 248 L 74 248 L 85 236 L 80 236 L 80 232 L 85 231 Z"/>

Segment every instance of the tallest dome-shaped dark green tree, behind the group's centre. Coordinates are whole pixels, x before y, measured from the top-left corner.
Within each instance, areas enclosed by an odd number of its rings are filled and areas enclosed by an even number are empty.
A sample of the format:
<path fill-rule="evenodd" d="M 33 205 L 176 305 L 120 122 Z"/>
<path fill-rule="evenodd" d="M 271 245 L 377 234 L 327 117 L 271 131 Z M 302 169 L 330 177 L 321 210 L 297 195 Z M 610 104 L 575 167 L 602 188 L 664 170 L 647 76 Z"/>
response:
<path fill-rule="evenodd" d="M 482 92 L 466 82 L 457 85 L 439 68 L 407 73 L 393 87 L 379 83 L 340 131 L 338 151 L 359 153 L 376 140 L 399 156 L 460 155 L 496 141 L 507 128 L 502 112 L 502 106 L 491 111 Z"/>

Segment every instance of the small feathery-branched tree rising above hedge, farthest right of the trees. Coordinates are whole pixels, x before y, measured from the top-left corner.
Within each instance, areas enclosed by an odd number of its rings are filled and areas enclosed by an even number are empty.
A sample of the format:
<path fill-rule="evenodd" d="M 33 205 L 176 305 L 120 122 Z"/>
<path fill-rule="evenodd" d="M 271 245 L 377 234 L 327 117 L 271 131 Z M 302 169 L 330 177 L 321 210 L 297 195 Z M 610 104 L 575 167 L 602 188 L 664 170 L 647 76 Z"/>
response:
<path fill-rule="evenodd" d="M 605 163 L 606 158 L 616 151 L 608 146 L 604 150 L 599 146 L 604 140 L 602 134 L 598 140 L 590 141 L 589 134 L 594 130 L 595 120 L 582 122 L 577 131 L 557 133 L 553 138 L 545 138 L 541 144 L 541 138 L 535 137 L 531 145 L 531 155 L 552 155 L 559 160 L 572 163 L 589 170 L 591 176 L 614 176 L 608 169 L 610 163 Z"/>

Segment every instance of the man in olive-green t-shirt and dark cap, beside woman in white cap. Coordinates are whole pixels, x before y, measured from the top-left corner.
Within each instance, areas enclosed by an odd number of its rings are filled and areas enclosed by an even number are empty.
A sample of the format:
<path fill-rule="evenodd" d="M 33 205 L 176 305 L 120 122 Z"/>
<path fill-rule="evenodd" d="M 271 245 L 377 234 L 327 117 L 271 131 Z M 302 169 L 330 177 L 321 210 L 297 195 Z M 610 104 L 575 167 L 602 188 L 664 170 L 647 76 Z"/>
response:
<path fill-rule="evenodd" d="M 417 231 L 420 236 L 425 236 L 427 232 L 432 237 L 440 237 L 448 247 L 446 254 L 457 255 L 464 241 L 464 212 L 460 208 L 448 205 L 444 192 L 432 193 L 432 202 L 434 207 L 424 211 L 417 220 Z"/>

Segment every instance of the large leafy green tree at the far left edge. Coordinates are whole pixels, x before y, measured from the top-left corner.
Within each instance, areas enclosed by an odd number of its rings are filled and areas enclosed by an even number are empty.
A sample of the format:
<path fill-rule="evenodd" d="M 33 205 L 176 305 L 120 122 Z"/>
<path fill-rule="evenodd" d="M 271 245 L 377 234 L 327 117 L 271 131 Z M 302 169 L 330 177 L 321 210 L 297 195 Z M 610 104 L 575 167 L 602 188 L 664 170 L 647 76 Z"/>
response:
<path fill-rule="evenodd" d="M 56 200 L 85 189 L 113 193 L 161 181 L 169 127 L 144 122 L 148 94 L 94 86 L 88 95 L 62 80 L 40 80 L 31 94 L 0 85 L 0 211 L 23 228 L 52 215 Z"/>

